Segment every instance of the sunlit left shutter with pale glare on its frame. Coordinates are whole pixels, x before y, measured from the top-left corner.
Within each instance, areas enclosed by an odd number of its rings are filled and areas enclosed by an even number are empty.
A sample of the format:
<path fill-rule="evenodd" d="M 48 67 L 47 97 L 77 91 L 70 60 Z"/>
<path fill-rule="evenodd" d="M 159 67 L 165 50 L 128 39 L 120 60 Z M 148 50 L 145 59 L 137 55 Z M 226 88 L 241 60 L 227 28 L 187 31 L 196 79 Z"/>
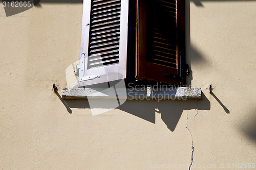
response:
<path fill-rule="evenodd" d="M 84 0 L 78 86 L 126 78 L 129 0 Z"/>

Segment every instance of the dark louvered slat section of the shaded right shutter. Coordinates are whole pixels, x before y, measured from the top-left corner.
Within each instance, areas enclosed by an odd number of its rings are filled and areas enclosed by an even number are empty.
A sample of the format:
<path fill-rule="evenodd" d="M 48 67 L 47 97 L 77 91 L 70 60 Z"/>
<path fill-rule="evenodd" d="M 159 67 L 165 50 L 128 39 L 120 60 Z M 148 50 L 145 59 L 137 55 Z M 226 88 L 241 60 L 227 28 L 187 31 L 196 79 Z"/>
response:
<path fill-rule="evenodd" d="M 148 39 L 151 41 L 151 54 L 147 61 L 164 66 L 177 68 L 177 27 L 176 27 L 176 2 L 154 0 L 150 10 L 154 14 L 148 15 Z"/>

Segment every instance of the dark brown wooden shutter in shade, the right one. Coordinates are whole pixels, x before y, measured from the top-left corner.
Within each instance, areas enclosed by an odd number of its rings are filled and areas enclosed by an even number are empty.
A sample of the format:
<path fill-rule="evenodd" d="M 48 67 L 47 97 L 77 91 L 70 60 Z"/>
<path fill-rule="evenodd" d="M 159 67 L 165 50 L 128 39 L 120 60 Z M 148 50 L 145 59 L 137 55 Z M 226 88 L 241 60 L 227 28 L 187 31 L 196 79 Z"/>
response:
<path fill-rule="evenodd" d="M 184 0 L 138 0 L 137 79 L 185 83 L 184 5 Z"/>

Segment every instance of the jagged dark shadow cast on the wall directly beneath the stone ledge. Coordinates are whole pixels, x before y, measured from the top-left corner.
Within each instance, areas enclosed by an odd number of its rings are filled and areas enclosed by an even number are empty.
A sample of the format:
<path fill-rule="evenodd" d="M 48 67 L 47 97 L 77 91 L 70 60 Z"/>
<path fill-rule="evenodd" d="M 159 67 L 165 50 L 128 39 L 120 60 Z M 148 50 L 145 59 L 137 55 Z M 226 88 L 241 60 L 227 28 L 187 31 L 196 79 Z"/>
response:
<path fill-rule="evenodd" d="M 90 108 L 87 100 L 67 100 L 67 105 L 71 108 Z M 127 100 L 123 105 L 119 106 L 124 112 L 140 117 L 148 122 L 155 124 L 156 112 L 161 114 L 163 122 L 170 131 L 174 131 L 181 114 L 184 110 L 198 109 L 210 110 L 210 102 L 202 93 L 202 100 L 186 100 L 186 101 L 141 101 Z"/>

